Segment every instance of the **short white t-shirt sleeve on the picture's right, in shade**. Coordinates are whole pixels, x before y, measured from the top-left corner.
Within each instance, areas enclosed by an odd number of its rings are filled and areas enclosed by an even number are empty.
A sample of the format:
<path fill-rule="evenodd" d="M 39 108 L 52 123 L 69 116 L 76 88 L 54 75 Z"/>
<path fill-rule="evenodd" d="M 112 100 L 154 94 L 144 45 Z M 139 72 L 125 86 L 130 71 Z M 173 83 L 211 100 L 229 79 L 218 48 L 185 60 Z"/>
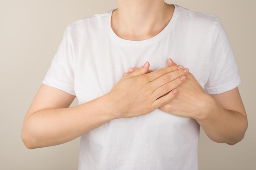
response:
<path fill-rule="evenodd" d="M 209 64 L 209 79 L 204 89 L 209 94 L 220 94 L 238 87 L 240 83 L 229 39 L 220 20 L 217 20 Z"/>

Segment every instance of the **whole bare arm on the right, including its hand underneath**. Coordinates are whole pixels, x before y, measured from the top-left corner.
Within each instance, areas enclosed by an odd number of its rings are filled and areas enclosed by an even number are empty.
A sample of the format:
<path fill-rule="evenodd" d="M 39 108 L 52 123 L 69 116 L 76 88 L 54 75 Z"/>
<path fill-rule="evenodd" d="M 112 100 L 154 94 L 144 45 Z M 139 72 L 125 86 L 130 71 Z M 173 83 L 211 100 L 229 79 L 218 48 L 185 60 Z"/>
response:
<path fill-rule="evenodd" d="M 175 65 L 170 61 L 168 64 Z M 233 145 L 243 139 L 248 123 L 238 88 L 209 95 L 192 74 L 187 74 L 186 81 L 177 89 L 179 94 L 160 109 L 194 118 L 215 142 Z"/>

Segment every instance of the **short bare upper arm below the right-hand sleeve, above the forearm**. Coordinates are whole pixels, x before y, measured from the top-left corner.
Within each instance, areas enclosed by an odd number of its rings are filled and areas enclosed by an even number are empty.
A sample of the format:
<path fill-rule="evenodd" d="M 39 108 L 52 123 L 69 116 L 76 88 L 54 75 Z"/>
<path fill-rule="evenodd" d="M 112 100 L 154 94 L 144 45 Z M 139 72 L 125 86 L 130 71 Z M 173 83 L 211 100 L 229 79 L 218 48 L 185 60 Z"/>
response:
<path fill-rule="evenodd" d="M 221 93 L 221 94 L 213 94 L 211 95 L 218 103 L 226 110 L 236 111 L 238 113 L 246 116 L 245 107 L 243 105 L 243 101 L 241 99 L 240 93 L 238 91 L 238 87 Z"/>

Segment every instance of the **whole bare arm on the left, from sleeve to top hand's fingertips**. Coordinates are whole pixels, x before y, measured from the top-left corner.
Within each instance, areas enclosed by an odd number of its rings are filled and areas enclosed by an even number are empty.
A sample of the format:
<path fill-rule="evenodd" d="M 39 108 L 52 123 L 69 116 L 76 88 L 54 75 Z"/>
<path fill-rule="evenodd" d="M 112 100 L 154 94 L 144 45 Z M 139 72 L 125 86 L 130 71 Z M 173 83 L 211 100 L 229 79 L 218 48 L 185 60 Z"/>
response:
<path fill-rule="evenodd" d="M 122 78 L 108 94 L 71 108 L 75 96 L 41 85 L 24 119 L 24 144 L 27 148 L 62 144 L 110 120 L 150 113 L 174 98 L 173 89 L 188 73 L 178 66 L 145 74 L 148 69 L 146 63 Z"/>

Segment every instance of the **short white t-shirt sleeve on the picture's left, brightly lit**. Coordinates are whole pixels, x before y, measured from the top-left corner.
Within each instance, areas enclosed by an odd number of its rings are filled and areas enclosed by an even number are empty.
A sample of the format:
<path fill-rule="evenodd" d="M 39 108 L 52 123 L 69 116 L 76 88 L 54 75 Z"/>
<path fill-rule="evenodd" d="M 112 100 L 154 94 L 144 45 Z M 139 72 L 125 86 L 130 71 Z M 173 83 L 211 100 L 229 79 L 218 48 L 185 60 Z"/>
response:
<path fill-rule="evenodd" d="M 74 92 L 73 57 L 72 37 L 67 28 L 42 83 L 76 96 Z"/>

